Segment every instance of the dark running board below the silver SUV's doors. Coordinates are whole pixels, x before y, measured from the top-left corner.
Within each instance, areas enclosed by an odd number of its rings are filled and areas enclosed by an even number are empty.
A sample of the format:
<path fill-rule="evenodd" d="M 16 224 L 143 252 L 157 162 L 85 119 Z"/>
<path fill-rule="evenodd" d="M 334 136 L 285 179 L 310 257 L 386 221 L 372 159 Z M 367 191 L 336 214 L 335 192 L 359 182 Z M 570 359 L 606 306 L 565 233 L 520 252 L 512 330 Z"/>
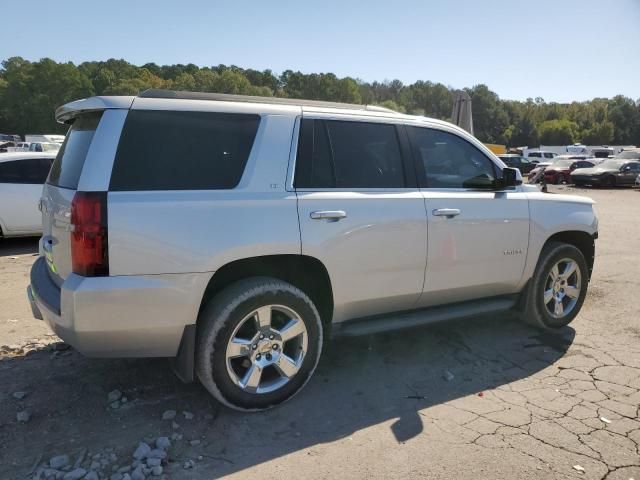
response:
<path fill-rule="evenodd" d="M 446 320 L 502 313 L 515 307 L 517 301 L 517 295 L 510 295 L 508 297 L 493 297 L 452 305 L 430 307 L 405 313 L 359 318 L 333 324 L 331 326 L 331 336 L 357 337 L 360 335 L 372 335 L 391 330 L 429 325 Z"/>

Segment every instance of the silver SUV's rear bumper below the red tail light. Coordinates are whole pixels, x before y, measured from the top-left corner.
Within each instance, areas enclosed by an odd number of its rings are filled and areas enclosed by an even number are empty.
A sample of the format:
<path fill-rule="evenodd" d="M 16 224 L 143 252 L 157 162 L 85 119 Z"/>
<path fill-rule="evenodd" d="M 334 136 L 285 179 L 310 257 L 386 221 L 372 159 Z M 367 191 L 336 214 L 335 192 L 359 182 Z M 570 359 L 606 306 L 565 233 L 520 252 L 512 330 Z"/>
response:
<path fill-rule="evenodd" d="M 41 318 L 80 353 L 95 357 L 174 357 L 195 323 L 211 273 L 82 277 L 58 287 L 40 257 L 27 296 Z"/>

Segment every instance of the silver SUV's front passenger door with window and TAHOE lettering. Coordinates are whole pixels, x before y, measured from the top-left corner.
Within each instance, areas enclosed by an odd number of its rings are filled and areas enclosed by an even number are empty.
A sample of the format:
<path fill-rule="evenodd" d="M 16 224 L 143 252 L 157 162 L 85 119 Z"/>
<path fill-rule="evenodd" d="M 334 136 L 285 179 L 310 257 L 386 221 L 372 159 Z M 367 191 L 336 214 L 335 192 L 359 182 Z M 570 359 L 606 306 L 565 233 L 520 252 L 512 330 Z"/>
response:
<path fill-rule="evenodd" d="M 457 133 L 407 130 L 428 218 L 419 306 L 517 292 L 529 241 L 526 194 L 517 187 L 494 190 L 500 169 Z"/>

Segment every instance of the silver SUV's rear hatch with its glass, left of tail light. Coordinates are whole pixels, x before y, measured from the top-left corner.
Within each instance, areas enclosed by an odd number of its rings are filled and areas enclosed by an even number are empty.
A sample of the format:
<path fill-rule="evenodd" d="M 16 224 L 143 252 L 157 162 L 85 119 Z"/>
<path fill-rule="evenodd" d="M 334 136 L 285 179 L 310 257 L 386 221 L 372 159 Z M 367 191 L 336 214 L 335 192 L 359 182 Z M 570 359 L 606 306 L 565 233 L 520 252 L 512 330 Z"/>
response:
<path fill-rule="evenodd" d="M 71 202 L 102 113 L 83 113 L 75 118 L 44 185 L 41 248 L 49 276 L 58 286 L 72 272 Z"/>

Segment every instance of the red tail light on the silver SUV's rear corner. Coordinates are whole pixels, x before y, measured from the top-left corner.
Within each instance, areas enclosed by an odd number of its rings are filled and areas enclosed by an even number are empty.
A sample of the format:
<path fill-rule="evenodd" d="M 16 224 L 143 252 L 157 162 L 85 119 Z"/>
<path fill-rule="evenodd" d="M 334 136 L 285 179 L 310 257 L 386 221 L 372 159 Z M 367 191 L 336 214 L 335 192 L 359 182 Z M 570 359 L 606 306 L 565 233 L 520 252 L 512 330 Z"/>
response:
<path fill-rule="evenodd" d="M 107 193 L 77 192 L 71 201 L 71 264 L 85 277 L 109 275 Z"/>

